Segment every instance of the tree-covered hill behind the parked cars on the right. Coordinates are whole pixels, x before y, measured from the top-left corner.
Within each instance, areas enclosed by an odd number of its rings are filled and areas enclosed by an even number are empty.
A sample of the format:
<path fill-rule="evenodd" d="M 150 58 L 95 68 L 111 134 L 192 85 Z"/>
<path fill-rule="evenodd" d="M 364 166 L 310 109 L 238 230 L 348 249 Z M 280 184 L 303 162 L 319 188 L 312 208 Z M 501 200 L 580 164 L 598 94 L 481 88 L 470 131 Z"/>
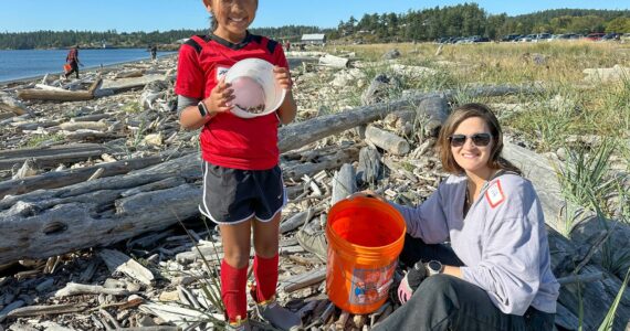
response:
<path fill-rule="evenodd" d="M 342 21 L 329 39 L 353 38 L 367 42 L 430 41 L 441 36 L 480 35 L 498 39 L 518 33 L 630 32 L 629 10 L 555 9 L 508 17 L 489 14 L 476 3 L 435 7 L 407 13 L 365 14 Z"/>

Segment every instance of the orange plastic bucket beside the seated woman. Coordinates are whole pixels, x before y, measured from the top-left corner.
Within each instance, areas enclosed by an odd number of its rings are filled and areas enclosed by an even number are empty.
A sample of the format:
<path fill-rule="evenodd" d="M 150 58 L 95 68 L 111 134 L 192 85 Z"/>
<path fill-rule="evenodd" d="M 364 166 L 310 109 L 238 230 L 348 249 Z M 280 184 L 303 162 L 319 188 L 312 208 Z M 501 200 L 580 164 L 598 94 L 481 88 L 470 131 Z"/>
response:
<path fill-rule="evenodd" d="M 336 203 L 326 224 L 330 301 L 358 314 L 385 303 L 406 232 L 402 215 L 380 200 L 357 196 Z"/>

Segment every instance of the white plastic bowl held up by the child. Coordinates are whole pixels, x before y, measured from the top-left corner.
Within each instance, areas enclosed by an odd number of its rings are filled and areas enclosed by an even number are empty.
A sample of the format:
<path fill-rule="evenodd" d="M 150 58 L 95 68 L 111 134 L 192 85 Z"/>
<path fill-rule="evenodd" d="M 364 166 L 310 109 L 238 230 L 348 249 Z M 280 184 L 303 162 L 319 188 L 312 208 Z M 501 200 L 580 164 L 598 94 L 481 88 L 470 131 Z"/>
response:
<path fill-rule="evenodd" d="M 286 90 L 277 84 L 273 64 L 261 58 L 237 62 L 227 73 L 225 82 L 232 84 L 235 98 L 232 114 L 253 118 L 271 114 L 282 105 Z"/>

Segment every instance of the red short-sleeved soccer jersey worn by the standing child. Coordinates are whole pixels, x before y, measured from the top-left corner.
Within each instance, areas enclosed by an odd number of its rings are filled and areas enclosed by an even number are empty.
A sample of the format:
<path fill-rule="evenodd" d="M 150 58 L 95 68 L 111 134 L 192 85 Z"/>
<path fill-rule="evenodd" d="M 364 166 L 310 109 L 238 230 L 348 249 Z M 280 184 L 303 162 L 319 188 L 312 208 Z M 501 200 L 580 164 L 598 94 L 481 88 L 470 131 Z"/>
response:
<path fill-rule="evenodd" d="M 277 42 L 248 32 L 239 44 L 216 35 L 192 36 L 179 50 L 175 93 L 203 99 L 228 70 L 237 62 L 258 57 L 288 68 Z M 275 113 L 254 118 L 240 118 L 227 111 L 217 115 L 201 130 L 201 154 L 212 164 L 242 169 L 266 170 L 279 162 Z"/>

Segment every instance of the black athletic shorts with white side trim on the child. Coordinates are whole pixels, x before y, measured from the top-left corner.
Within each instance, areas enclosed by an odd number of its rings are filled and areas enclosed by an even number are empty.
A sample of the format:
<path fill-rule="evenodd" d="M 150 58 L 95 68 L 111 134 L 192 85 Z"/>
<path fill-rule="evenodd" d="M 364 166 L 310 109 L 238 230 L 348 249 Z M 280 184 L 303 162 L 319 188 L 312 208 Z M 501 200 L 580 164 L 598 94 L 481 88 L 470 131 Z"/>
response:
<path fill-rule="evenodd" d="M 270 222 L 286 203 L 282 170 L 240 170 L 203 161 L 203 197 L 199 211 L 217 224 L 255 217 Z"/>

